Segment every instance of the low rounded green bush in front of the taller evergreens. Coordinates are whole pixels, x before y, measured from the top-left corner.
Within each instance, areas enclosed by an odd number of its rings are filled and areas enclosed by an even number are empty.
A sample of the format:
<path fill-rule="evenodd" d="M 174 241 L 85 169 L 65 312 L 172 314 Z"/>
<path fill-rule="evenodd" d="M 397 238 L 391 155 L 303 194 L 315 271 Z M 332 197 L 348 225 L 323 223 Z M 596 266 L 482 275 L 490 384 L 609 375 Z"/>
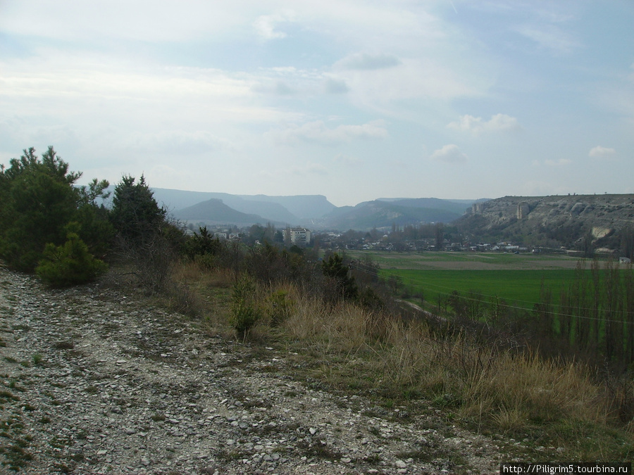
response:
<path fill-rule="evenodd" d="M 46 244 L 44 258 L 35 269 L 46 284 L 54 287 L 85 284 L 108 269 L 105 262 L 89 253 L 88 246 L 77 234 L 78 228 L 77 223 L 68 225 L 67 241 L 62 246 Z"/>

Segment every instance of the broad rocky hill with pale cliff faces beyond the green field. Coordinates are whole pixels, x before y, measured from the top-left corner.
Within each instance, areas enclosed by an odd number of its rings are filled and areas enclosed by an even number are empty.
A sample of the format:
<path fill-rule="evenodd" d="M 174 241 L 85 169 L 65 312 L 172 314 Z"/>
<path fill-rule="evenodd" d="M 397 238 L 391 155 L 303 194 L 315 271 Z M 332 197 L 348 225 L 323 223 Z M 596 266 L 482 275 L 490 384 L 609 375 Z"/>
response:
<path fill-rule="evenodd" d="M 634 226 L 634 195 L 505 196 L 474 203 L 454 224 L 481 241 L 616 249 Z"/>

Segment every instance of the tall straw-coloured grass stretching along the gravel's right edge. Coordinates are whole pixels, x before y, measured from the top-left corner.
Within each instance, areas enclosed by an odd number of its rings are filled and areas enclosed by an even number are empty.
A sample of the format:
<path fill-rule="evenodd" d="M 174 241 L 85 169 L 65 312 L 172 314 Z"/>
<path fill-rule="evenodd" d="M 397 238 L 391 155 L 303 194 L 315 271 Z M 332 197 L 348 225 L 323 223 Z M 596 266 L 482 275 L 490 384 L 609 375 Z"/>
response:
<path fill-rule="evenodd" d="M 497 431 L 609 418 L 604 387 L 583 365 L 499 350 L 465 335 L 437 339 L 423 322 L 402 322 L 352 303 L 330 308 L 295 295 L 295 311 L 284 322 L 288 334 L 323 353 L 351 355 L 340 365 L 354 360 L 356 368 L 359 355 L 366 355 L 366 371 L 395 395 L 416 391 L 460 419 Z"/>

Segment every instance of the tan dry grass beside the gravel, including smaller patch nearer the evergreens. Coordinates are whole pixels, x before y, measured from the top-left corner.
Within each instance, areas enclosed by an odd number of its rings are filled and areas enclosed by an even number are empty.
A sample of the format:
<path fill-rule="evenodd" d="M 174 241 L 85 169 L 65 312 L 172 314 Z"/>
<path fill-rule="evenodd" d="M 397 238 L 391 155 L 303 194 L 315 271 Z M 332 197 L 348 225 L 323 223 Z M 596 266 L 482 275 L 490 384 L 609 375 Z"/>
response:
<path fill-rule="evenodd" d="M 196 264 L 177 272 L 203 303 L 204 328 L 232 335 L 228 307 L 235 276 Z M 613 424 L 617 399 L 634 392 L 631 381 L 610 392 L 583 365 L 496 350 L 464 335 L 439 339 L 424 322 L 403 322 L 352 303 L 328 305 L 290 284 L 260 286 L 257 294 L 264 317 L 253 341 L 275 341 L 299 353 L 306 370 L 297 370 L 297 377 L 372 390 L 367 394 L 389 400 L 406 402 L 414 394 L 471 429 L 535 447 L 563 446 L 571 460 L 614 461 L 634 453 L 631 436 Z"/>

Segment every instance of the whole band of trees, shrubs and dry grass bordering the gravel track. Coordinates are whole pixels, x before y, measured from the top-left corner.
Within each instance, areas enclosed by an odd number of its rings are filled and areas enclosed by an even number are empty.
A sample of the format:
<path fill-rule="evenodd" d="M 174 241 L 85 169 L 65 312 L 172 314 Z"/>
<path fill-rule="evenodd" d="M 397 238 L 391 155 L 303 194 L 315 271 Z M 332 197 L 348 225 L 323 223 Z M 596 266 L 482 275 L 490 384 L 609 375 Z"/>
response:
<path fill-rule="evenodd" d="M 435 412 L 513 438 L 509 458 L 634 455 L 630 267 L 580 267 L 557 306 L 540 284 L 528 310 L 447 289 L 428 307 L 419 298 L 421 311 L 400 301 L 402 281 L 373 260 L 218 241 L 205 228 L 188 234 L 143 177 L 123 177 L 106 208 L 98 198 L 108 184 L 77 187 L 79 176 L 52 147 L 41 160 L 30 148 L 2 167 L 6 265 L 51 286 L 101 279 L 143 293 L 201 331 L 287 350 L 294 377 L 399 407 L 403 424 Z"/>

